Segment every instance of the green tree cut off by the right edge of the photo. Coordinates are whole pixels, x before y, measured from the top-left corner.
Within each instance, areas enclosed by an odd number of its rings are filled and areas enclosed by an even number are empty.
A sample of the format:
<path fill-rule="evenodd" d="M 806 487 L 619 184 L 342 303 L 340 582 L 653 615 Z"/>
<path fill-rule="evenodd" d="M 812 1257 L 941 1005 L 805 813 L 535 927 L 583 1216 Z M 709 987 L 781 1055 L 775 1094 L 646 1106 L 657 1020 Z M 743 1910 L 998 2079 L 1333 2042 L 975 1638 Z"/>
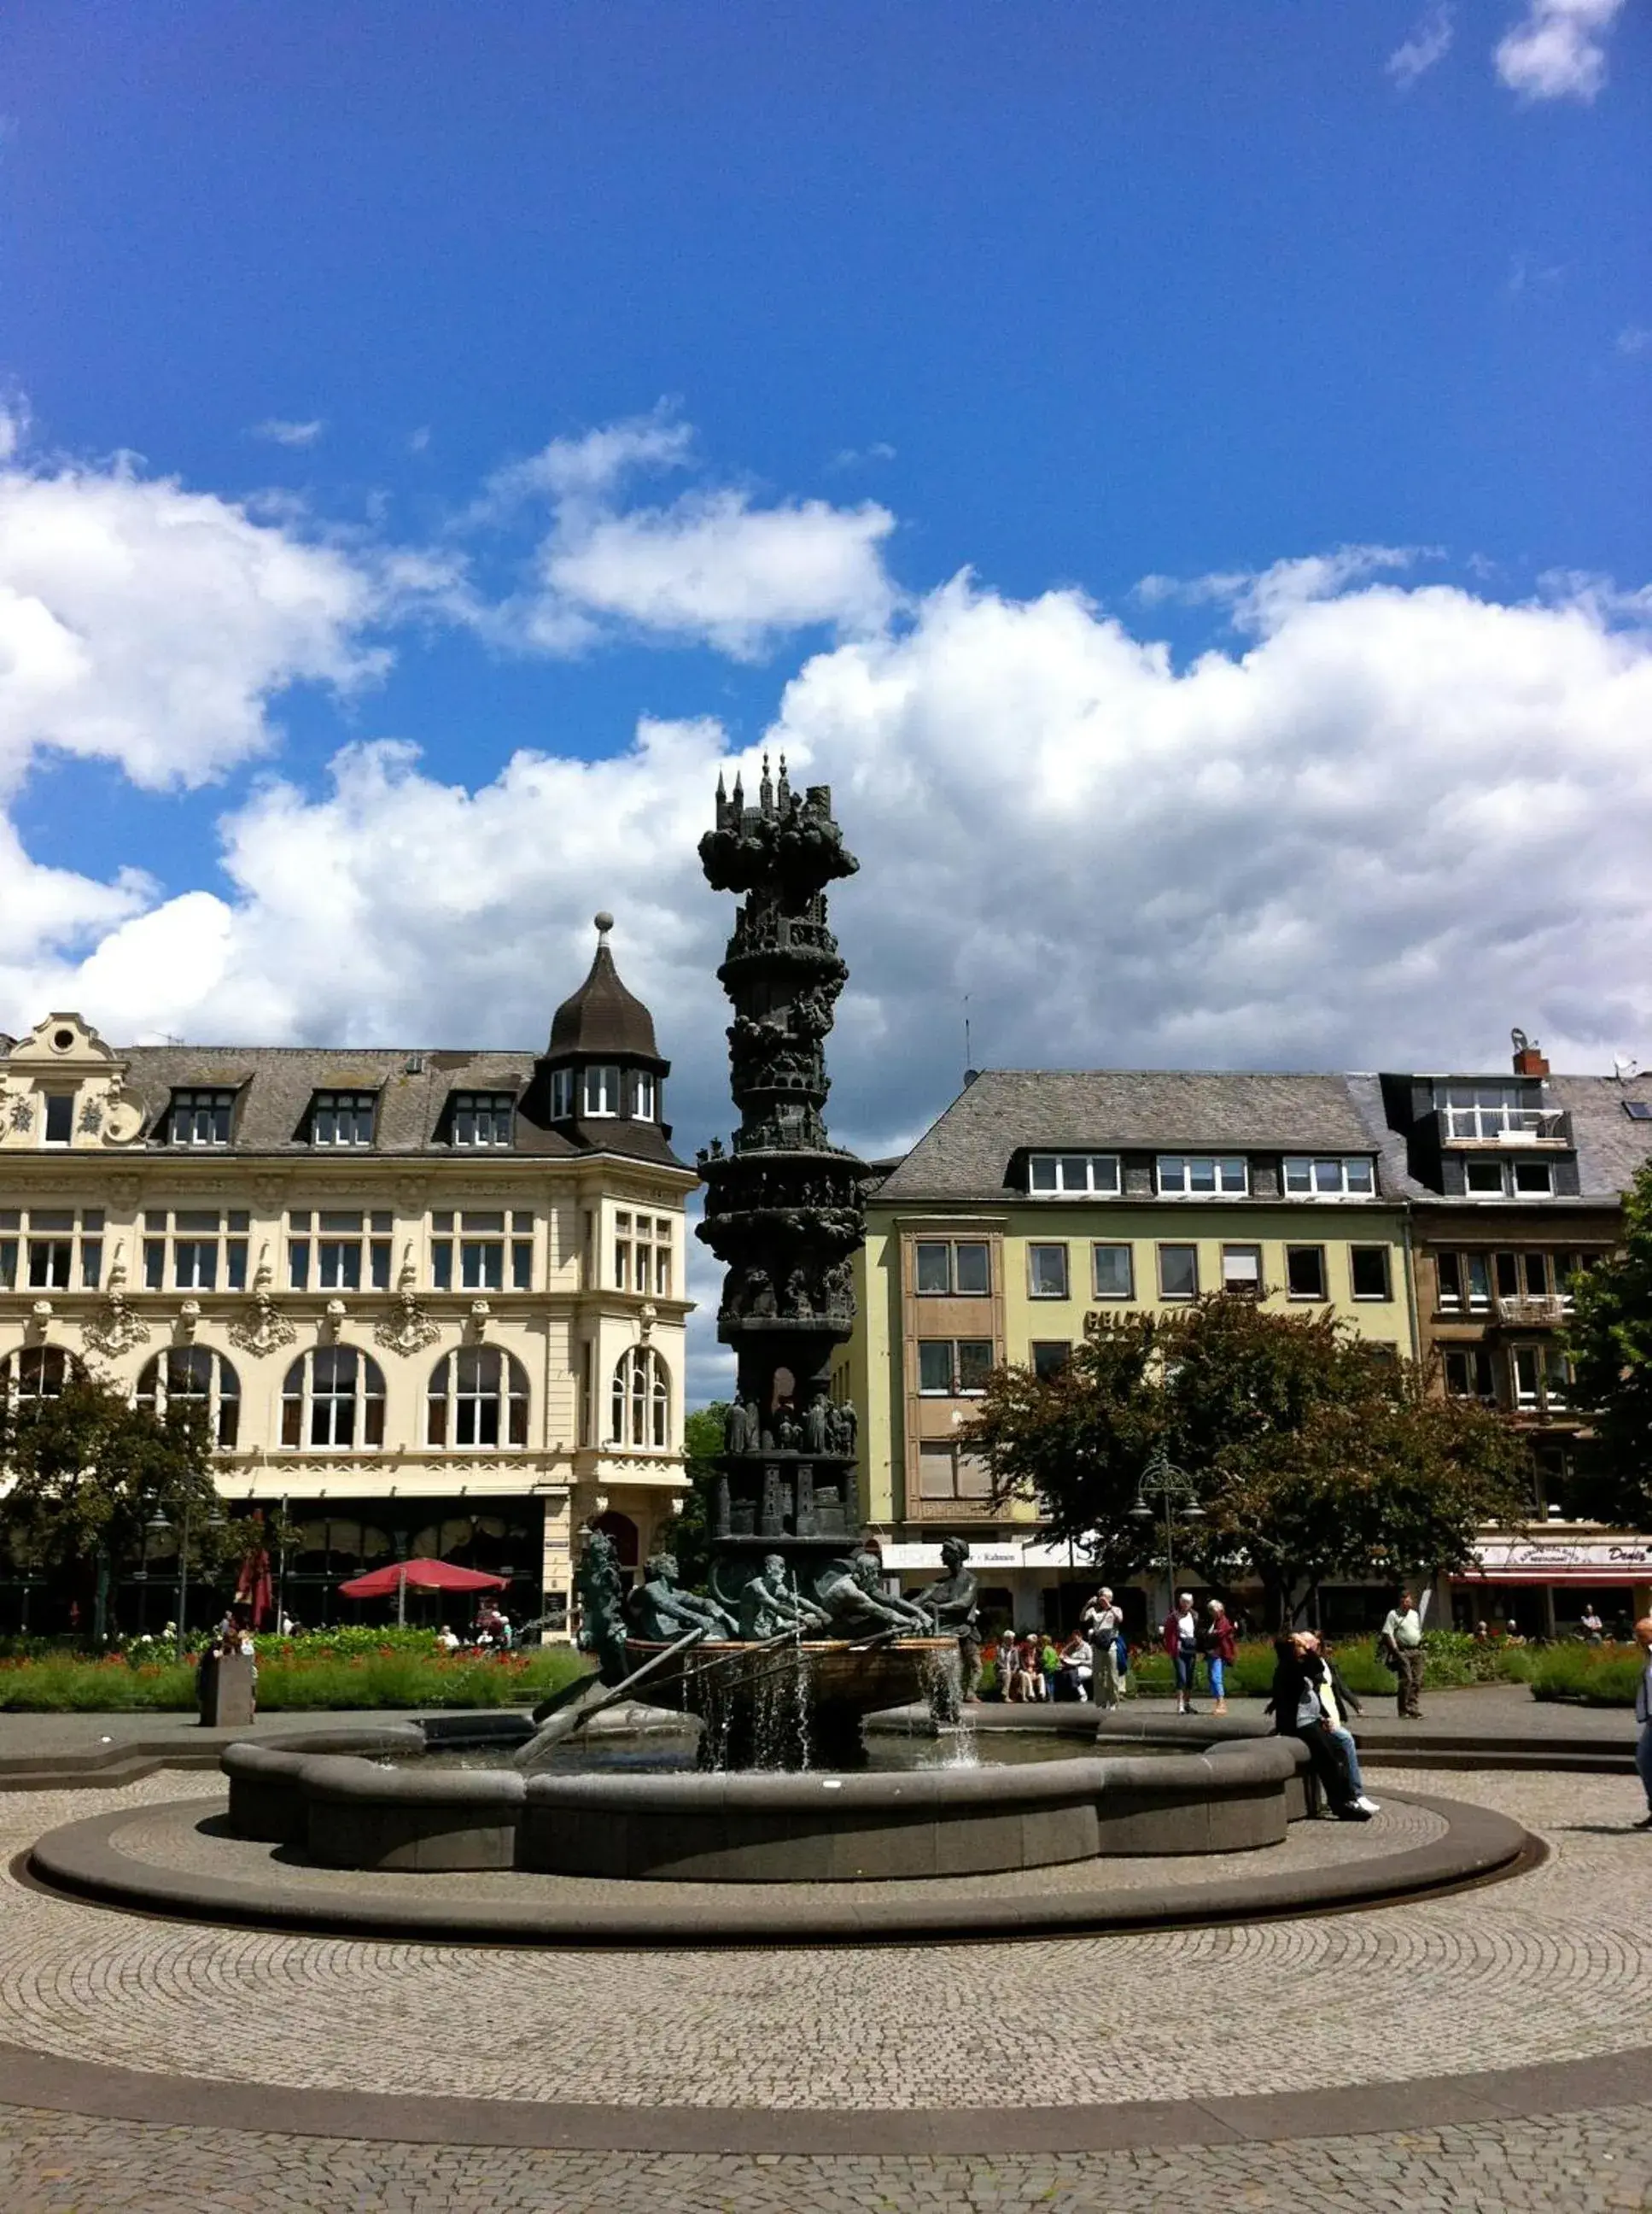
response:
<path fill-rule="evenodd" d="M 1597 1512 L 1652 1528 L 1652 1160 L 1623 1193 L 1623 1242 L 1572 1284 L 1566 1351 L 1592 1415 Z"/>

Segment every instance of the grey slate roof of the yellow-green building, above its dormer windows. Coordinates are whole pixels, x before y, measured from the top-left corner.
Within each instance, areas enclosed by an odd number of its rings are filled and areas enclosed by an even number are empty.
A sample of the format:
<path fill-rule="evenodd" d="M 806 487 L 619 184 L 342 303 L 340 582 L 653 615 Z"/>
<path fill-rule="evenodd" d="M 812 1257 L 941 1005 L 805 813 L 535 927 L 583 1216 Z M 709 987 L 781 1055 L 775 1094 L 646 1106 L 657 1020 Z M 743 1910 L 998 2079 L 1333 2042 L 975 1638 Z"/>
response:
<path fill-rule="evenodd" d="M 1373 1153 L 1378 1138 L 1347 1076 L 986 1069 L 924 1131 L 878 1198 L 1004 1198 L 1011 1158 L 1024 1147 Z"/>

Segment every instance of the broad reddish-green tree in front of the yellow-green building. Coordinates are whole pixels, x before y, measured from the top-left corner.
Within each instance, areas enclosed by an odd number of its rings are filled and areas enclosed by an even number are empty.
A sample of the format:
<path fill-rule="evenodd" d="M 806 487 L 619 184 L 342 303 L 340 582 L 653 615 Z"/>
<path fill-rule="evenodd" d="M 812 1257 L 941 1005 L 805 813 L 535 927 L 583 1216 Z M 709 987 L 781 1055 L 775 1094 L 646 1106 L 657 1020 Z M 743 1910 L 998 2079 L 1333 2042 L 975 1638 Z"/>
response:
<path fill-rule="evenodd" d="M 1117 1581 L 1163 1559 L 1141 1492 L 1163 1450 L 1199 1508 L 1179 1559 L 1210 1583 L 1258 1576 L 1278 1621 L 1331 1576 L 1462 1568 L 1530 1497 L 1526 1446 L 1495 1415 L 1431 1395 L 1345 1322 L 1232 1295 L 1090 1315 L 1059 1375 L 997 1370 L 962 1437 L 1000 1497 L 1037 1497 Z"/>

